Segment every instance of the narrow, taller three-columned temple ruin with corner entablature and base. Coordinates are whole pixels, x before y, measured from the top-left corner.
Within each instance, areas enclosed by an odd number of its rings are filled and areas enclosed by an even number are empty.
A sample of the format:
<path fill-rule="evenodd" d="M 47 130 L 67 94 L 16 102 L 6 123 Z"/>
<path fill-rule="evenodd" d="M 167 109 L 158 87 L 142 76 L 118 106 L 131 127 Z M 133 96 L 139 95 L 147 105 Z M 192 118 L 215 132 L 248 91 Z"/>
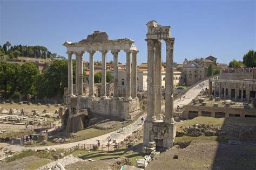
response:
<path fill-rule="evenodd" d="M 176 124 L 173 119 L 173 45 L 171 27 L 152 20 L 147 24 L 147 117 L 143 145 L 173 146 Z M 166 43 L 165 115 L 161 115 L 161 40 Z"/>

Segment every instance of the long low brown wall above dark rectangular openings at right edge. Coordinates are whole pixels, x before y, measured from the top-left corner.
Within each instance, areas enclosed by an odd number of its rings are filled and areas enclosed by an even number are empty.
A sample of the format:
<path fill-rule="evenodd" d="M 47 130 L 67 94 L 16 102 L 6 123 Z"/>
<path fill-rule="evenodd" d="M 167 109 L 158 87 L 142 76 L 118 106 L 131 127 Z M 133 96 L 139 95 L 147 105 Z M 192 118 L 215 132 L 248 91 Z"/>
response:
<path fill-rule="evenodd" d="M 240 115 L 240 117 L 254 116 L 256 117 L 256 109 L 244 109 L 244 108 L 228 108 L 228 107 L 204 107 L 195 105 L 186 105 L 184 117 L 188 119 L 190 112 L 198 112 L 198 116 L 202 116 L 202 112 L 210 112 L 211 117 L 216 117 L 216 114 L 225 114 L 224 117 L 230 117 L 231 115 Z"/>

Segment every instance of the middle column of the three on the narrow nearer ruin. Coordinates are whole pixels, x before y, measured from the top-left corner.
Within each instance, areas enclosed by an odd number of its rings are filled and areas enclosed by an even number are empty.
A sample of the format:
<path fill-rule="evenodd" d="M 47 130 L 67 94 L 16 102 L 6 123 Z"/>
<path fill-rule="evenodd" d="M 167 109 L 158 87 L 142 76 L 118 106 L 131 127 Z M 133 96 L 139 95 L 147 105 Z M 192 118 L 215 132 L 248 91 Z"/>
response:
<path fill-rule="evenodd" d="M 161 40 L 157 40 L 155 48 L 154 72 L 154 114 L 161 114 Z"/>

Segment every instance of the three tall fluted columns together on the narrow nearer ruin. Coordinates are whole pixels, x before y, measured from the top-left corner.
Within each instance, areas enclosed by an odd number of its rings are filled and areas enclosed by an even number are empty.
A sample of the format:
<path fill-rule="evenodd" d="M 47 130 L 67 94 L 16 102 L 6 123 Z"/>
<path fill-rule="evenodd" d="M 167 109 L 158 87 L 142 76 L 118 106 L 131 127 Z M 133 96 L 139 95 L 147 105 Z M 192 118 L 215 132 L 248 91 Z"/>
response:
<path fill-rule="evenodd" d="M 161 40 L 147 41 L 147 117 L 146 121 L 156 121 L 155 114 L 161 113 Z M 174 38 L 165 39 L 165 123 L 173 119 L 173 45 Z M 156 51 L 155 51 L 156 49 Z"/>

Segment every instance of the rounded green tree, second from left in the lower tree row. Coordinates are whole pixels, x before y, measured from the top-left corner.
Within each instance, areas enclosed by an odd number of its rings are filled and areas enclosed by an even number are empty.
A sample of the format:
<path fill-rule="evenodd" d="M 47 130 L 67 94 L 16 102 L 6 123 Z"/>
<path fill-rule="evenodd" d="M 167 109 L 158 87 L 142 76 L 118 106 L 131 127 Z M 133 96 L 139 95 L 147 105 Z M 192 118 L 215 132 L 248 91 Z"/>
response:
<path fill-rule="evenodd" d="M 31 62 L 26 62 L 21 66 L 21 73 L 19 74 L 19 92 L 23 95 L 32 94 L 34 91 L 34 81 L 39 74 L 36 65 Z"/>

